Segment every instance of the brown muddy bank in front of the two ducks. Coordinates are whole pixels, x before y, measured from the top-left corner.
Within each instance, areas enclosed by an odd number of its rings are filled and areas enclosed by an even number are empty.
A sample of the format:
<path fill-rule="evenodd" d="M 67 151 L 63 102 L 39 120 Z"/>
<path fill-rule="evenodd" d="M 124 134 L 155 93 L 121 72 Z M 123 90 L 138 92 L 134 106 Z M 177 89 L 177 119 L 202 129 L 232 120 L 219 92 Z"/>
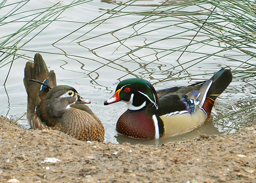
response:
<path fill-rule="evenodd" d="M 161 146 L 78 141 L 0 118 L 0 182 L 255 183 L 256 127 Z"/>

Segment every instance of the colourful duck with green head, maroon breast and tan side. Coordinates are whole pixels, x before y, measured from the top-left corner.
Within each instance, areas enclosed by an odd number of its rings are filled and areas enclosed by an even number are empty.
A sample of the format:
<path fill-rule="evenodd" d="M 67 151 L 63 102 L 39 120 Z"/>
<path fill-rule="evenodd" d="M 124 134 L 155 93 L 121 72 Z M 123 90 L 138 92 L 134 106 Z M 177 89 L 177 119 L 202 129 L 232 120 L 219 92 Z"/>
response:
<path fill-rule="evenodd" d="M 104 105 L 127 103 L 128 110 L 116 123 L 116 131 L 122 135 L 139 139 L 170 137 L 203 124 L 215 99 L 231 81 L 230 69 L 221 69 L 204 82 L 157 91 L 144 79 L 125 79 Z"/>

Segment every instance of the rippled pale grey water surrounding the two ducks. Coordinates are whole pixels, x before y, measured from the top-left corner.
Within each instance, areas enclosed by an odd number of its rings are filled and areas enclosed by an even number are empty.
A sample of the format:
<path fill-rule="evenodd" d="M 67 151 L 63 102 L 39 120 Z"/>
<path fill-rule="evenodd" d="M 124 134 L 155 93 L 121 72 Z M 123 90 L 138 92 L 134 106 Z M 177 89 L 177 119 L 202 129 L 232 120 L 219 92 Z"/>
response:
<path fill-rule="evenodd" d="M 36 2 L 30 1 L 20 9 L 20 11 L 24 11 L 22 14 L 24 17 L 32 14 L 27 10 L 35 8 L 35 4 L 46 8 L 53 6 L 55 1 Z M 195 36 L 195 31 L 183 32 L 187 28 L 195 29 L 192 23 L 179 24 L 180 19 L 174 16 L 163 16 L 161 19 L 155 20 L 153 17 L 145 16 L 145 19 L 142 19 L 141 15 L 127 13 L 152 10 L 152 7 L 163 4 L 163 8 L 170 6 L 170 9 L 173 10 L 161 9 L 162 15 L 169 13 L 173 15 L 175 12 L 180 14 L 181 11 L 174 11 L 174 7 L 171 6 L 184 2 L 189 1 L 102 0 L 81 3 L 79 6 L 67 8 L 61 14 L 60 20 L 50 24 L 42 32 L 40 32 L 40 28 L 35 29 L 35 34 L 38 35 L 33 39 L 31 37 L 34 34 L 28 35 L 26 40 L 29 42 L 23 46 L 24 50 L 20 50 L 18 53 L 26 54 L 28 59 L 32 60 L 36 51 L 41 52 L 49 69 L 55 70 L 58 84 L 73 86 L 81 96 L 91 100 L 91 104 L 88 106 L 99 116 L 105 127 L 105 141 L 162 144 L 168 141 L 197 137 L 202 133 L 222 134 L 230 130 L 235 132 L 251 124 L 253 120 L 255 121 L 255 114 L 247 116 L 255 108 L 239 113 L 235 112 L 256 104 L 256 79 L 255 76 L 251 77 L 251 74 L 256 71 L 256 59 L 251 59 L 250 55 L 241 56 L 241 53 L 233 50 L 218 53 L 219 46 L 226 44 L 222 42 L 215 42 L 215 47 L 191 43 L 191 46 L 186 48 L 184 45 L 189 44 L 190 39 Z M 64 0 L 63 3 L 68 4 L 69 1 Z M 131 6 L 126 6 L 128 3 L 131 3 Z M 116 8 L 119 5 L 120 7 Z M 11 7 L 9 6 L 9 8 Z M 118 15 L 113 12 L 110 15 L 106 11 L 113 9 L 117 11 L 121 8 L 124 9 Z M 201 11 L 199 7 L 193 8 L 188 6 L 186 11 Z M 212 7 L 209 6 L 209 8 Z M 3 16 L 4 13 L 6 11 L 1 9 L 0 16 Z M 112 15 L 115 18 L 106 20 Z M 6 30 L 6 32 L 0 33 L 1 37 L 24 25 L 24 22 L 16 20 L 20 18 L 19 16 L 13 15 L 7 18 L 8 21 L 15 20 L 12 24 L 0 24 L 1 30 Z M 26 20 L 29 20 L 29 17 L 26 17 Z M 73 31 L 75 32 L 70 34 Z M 170 35 L 176 36 L 169 37 Z M 128 37 L 129 39 L 127 39 Z M 197 42 L 203 41 L 206 37 L 208 37 L 206 34 L 198 34 Z M 55 44 L 52 45 L 52 43 Z M 182 51 L 185 49 L 187 52 L 183 53 Z M 202 62 L 196 60 L 208 51 L 213 53 L 210 58 Z M 49 54 L 49 52 L 58 54 Z M 224 56 L 230 57 L 230 59 L 224 59 Z M 234 61 L 233 58 L 236 58 L 237 61 Z M 19 58 L 16 61 L 6 86 L 0 86 L 2 101 L 0 115 L 13 115 L 13 118 L 17 119 L 26 112 L 23 68 L 27 60 Z M 198 64 L 195 64 L 196 62 Z M 243 62 L 246 63 L 243 64 Z M 126 104 L 119 102 L 103 106 L 103 102 L 113 95 L 116 85 L 123 79 L 141 77 L 154 84 L 156 89 L 163 89 L 209 79 L 213 73 L 223 67 L 235 70 L 233 82 L 217 99 L 211 118 L 200 128 L 183 135 L 160 141 L 138 141 L 126 138 L 117 134 L 115 130 L 116 121 L 126 110 Z M 9 65 L 0 70 L 2 72 L 0 83 L 3 84 Z M 244 78 L 246 77 L 245 73 L 236 73 L 239 70 L 247 70 L 246 76 L 249 77 Z M 234 114 L 217 120 L 231 113 Z M 241 121 L 242 119 L 244 120 Z M 26 118 L 21 118 L 19 123 L 26 125 Z"/>

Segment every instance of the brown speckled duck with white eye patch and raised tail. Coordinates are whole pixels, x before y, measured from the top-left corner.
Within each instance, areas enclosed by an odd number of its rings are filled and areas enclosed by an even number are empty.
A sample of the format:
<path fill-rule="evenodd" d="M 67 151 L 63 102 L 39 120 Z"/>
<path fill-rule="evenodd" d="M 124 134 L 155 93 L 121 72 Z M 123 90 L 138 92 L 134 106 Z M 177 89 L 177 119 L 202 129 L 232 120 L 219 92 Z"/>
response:
<path fill-rule="evenodd" d="M 101 121 L 85 105 L 90 101 L 73 87 L 57 86 L 54 71 L 49 72 L 39 53 L 34 62 L 26 63 L 23 82 L 28 95 L 27 120 L 32 129 L 51 128 L 82 141 L 104 141 Z"/>

